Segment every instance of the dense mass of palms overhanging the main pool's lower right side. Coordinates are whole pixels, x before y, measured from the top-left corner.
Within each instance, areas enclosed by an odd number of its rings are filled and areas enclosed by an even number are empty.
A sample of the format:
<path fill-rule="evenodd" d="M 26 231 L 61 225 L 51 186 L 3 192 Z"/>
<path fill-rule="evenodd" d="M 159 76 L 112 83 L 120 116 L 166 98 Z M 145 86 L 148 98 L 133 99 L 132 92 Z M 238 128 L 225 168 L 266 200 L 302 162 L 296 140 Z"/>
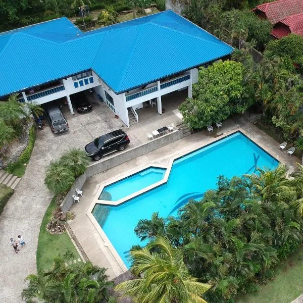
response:
<path fill-rule="evenodd" d="M 242 177 L 219 176 L 217 188 L 208 190 L 201 200 L 189 201 L 177 218 L 154 214 L 150 220 L 140 220 L 137 236 L 154 243 L 143 249 L 135 246 L 131 252 L 132 271 L 141 273 L 145 283 L 129 282 L 121 289 L 133 294 L 134 287 L 150 287 L 140 292 L 145 298 L 161 286 L 167 274 L 163 255 L 169 251 L 159 245 L 164 237 L 174 251 L 183 254 L 189 273 L 212 285 L 204 294 L 207 301 L 232 303 L 236 293 L 257 291 L 273 278 L 274 266 L 303 240 L 303 166 L 298 165 L 293 176 L 288 179 L 281 164 L 275 170 L 257 170 Z M 158 267 L 153 269 L 155 260 Z M 171 271 L 171 281 L 174 274 Z"/>

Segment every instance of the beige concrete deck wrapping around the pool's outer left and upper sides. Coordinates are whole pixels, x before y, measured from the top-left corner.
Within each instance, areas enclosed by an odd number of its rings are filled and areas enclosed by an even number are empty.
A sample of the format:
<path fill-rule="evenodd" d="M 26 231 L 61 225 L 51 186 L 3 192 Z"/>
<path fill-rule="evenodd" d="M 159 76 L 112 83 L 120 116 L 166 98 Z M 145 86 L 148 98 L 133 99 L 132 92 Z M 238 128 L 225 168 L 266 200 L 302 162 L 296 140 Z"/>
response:
<path fill-rule="evenodd" d="M 76 218 L 69 221 L 69 225 L 88 259 L 94 265 L 108 268 L 107 274 L 112 279 L 126 271 L 125 265 L 120 262 L 121 260 L 117 260 L 119 259 L 117 256 L 115 257 L 115 252 L 110 248 L 111 244 L 100 235 L 100 228 L 95 226 L 89 218 L 91 216 L 86 214 L 88 210 L 91 210 L 93 198 L 99 190 L 100 185 L 116 181 L 126 173 L 147 165 L 167 166 L 171 158 L 182 156 L 238 130 L 250 137 L 251 140 L 264 148 L 280 162 L 287 164 L 289 172 L 293 171 L 295 162 L 300 163 L 300 160 L 296 157 L 289 157 L 286 155 L 286 151 L 282 153 L 279 150 L 280 142 L 275 141 L 244 118 L 238 118 L 224 121 L 223 127 L 219 130 L 214 128 L 213 134 L 209 134 L 207 131 L 191 134 L 181 140 L 109 169 L 106 172 L 94 175 L 87 179 L 82 188 L 83 198 L 80 198 L 80 204 L 74 204 L 71 208 L 71 211 L 75 212 Z"/>

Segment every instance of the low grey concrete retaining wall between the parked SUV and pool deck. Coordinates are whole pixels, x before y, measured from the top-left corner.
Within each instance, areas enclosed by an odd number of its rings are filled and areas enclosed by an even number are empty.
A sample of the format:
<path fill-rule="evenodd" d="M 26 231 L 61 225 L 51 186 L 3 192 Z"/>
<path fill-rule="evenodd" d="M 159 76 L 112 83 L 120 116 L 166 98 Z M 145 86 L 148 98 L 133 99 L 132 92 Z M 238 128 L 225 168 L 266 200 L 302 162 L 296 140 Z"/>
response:
<path fill-rule="evenodd" d="M 99 162 L 89 165 L 86 169 L 86 172 L 76 179 L 73 186 L 68 191 L 67 195 L 62 201 L 60 205 L 62 211 L 66 213 L 71 208 L 71 206 L 74 203 L 74 199 L 72 195 L 76 194 L 76 188 L 79 189 L 82 188 L 87 178 L 92 177 L 98 173 L 102 173 L 110 168 L 118 166 L 134 158 L 150 153 L 150 151 L 154 151 L 162 146 L 177 141 L 182 137 L 183 137 L 183 131 L 181 129 L 176 130 L 164 136 L 161 136 L 157 139 L 143 143 L 141 145 L 129 149 L 126 148 L 126 150 L 123 151 L 122 153 L 115 153 L 113 156 L 107 157 Z"/>

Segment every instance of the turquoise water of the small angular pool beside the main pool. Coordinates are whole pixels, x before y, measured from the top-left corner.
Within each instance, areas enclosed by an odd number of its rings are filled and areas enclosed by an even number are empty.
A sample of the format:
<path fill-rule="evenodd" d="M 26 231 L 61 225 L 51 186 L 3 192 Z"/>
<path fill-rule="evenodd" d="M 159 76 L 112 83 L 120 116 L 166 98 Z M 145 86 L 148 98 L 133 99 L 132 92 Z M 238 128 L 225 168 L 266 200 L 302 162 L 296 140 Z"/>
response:
<path fill-rule="evenodd" d="M 127 178 L 104 187 L 100 200 L 118 201 L 138 190 L 163 179 L 166 169 L 149 167 Z"/>

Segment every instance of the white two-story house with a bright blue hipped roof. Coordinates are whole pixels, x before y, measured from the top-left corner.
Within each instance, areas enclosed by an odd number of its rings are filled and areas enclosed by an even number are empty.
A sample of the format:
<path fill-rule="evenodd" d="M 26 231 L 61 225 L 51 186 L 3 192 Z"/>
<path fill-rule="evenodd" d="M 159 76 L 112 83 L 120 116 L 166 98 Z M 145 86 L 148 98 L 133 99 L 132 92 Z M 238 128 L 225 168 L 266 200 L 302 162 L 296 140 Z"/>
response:
<path fill-rule="evenodd" d="M 165 11 L 89 32 L 60 18 L 0 34 L 0 98 L 45 104 L 94 89 L 129 126 L 144 103 L 162 114 L 163 95 L 188 89 L 198 67 L 233 49 L 183 17 Z"/>

